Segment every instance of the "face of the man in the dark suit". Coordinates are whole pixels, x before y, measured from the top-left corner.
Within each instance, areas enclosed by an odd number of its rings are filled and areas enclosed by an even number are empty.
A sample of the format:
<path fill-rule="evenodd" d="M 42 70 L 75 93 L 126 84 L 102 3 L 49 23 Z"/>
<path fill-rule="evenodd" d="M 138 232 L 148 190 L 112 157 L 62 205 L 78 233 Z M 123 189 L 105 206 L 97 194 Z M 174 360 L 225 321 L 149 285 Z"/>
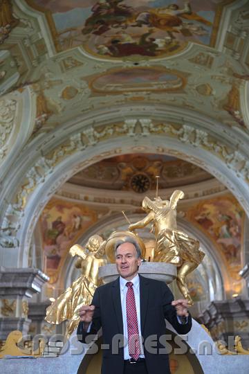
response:
<path fill-rule="evenodd" d="M 126 242 L 120 244 L 116 251 L 116 267 L 118 274 L 122 278 L 130 281 L 138 274 L 138 266 L 141 264 L 141 258 L 138 258 L 136 248 L 132 243 Z"/>

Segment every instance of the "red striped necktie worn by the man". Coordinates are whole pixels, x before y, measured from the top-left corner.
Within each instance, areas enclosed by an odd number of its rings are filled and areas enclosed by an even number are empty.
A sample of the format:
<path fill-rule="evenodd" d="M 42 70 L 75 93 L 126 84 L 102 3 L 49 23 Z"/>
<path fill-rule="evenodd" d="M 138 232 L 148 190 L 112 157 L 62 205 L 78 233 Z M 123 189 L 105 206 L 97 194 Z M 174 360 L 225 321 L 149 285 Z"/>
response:
<path fill-rule="evenodd" d="M 128 350 L 129 355 L 137 360 L 140 356 L 140 343 L 138 334 L 138 317 L 136 314 L 136 302 L 133 291 L 133 283 L 127 282 L 128 287 L 126 295 L 126 307 L 127 307 L 127 330 L 128 330 Z"/>

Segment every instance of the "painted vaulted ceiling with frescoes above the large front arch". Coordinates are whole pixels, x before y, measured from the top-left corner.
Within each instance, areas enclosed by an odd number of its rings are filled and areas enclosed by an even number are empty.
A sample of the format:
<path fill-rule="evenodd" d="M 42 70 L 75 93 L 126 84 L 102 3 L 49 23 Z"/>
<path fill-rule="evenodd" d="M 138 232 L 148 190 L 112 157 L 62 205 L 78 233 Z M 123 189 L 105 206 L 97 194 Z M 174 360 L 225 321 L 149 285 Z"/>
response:
<path fill-rule="evenodd" d="M 241 0 L 4 1 L 0 94 L 34 97 L 30 142 L 115 105 L 167 105 L 248 133 L 248 26 Z"/>

